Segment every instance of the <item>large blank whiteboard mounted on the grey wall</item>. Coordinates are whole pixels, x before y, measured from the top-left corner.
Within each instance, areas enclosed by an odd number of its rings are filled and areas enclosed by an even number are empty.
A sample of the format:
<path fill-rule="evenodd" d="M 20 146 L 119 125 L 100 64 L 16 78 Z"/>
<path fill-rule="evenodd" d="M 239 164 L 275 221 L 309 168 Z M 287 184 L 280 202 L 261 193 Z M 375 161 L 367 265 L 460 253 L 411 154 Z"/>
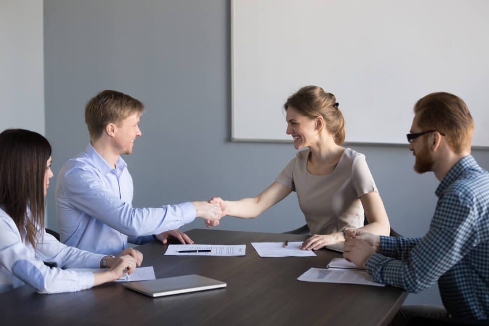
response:
<path fill-rule="evenodd" d="M 283 104 L 317 85 L 346 142 L 406 144 L 422 96 L 460 96 L 489 146 L 488 0 L 233 0 L 232 139 L 291 140 Z"/>

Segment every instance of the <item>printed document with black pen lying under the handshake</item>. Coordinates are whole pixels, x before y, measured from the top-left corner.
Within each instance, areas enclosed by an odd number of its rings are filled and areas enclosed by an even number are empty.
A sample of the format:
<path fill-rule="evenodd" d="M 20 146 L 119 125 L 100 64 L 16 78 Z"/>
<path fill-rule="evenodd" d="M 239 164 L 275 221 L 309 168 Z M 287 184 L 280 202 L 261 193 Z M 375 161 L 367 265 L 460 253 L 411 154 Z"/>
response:
<path fill-rule="evenodd" d="M 210 250 L 201 252 L 201 250 Z M 178 252 L 195 251 L 195 252 Z M 167 256 L 244 256 L 245 244 L 169 244 L 165 255 Z"/>

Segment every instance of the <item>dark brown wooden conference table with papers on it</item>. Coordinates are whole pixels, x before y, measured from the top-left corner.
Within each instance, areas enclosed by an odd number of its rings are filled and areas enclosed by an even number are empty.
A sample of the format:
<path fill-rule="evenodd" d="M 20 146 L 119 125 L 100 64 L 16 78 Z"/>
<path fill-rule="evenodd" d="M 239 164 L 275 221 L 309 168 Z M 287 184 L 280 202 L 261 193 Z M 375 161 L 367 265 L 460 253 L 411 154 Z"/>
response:
<path fill-rule="evenodd" d="M 300 282 L 340 253 L 261 258 L 250 242 L 300 241 L 303 235 L 194 229 L 195 243 L 246 244 L 244 257 L 164 256 L 167 245 L 137 247 L 156 278 L 199 274 L 223 289 L 150 298 L 121 283 L 61 294 L 24 285 L 0 294 L 1 325 L 387 325 L 406 292 L 395 287 Z"/>

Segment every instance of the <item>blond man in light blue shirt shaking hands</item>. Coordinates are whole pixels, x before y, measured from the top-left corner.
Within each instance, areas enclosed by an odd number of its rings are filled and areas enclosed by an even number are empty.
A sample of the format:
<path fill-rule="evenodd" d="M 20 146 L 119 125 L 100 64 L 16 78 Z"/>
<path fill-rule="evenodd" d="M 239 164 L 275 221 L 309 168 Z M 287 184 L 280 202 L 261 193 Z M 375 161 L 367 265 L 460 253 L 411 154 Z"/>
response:
<path fill-rule="evenodd" d="M 172 237 L 193 243 L 177 229 L 196 217 L 216 225 L 219 204 L 206 201 L 133 208 L 133 179 L 121 154 L 133 152 L 141 136 L 144 105 L 133 97 L 104 90 L 85 109 L 90 143 L 67 160 L 58 174 L 56 213 L 63 243 L 95 253 L 119 253 L 128 242 L 143 244 Z"/>

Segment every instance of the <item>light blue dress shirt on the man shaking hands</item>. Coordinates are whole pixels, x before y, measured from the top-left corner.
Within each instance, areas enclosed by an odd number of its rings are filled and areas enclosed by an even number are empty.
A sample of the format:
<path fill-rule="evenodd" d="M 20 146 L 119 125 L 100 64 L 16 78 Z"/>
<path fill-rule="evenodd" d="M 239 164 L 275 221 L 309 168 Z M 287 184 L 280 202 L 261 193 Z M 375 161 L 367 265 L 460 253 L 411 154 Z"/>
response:
<path fill-rule="evenodd" d="M 133 208 L 133 178 L 119 156 L 115 169 L 89 144 L 69 159 L 56 182 L 56 215 L 61 242 L 111 255 L 128 242 L 153 241 L 153 234 L 178 229 L 196 217 L 185 202 L 159 208 Z"/>

